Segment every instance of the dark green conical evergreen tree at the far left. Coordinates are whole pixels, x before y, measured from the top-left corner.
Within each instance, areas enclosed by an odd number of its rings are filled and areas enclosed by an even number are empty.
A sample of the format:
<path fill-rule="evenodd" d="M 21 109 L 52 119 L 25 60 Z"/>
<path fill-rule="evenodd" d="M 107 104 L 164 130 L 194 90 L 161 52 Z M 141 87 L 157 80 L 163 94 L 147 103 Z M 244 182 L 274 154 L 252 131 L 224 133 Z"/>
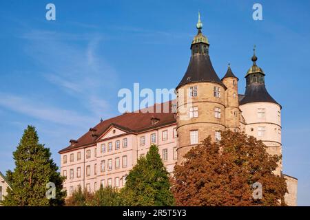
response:
<path fill-rule="evenodd" d="M 28 126 L 13 153 L 14 171 L 7 171 L 7 178 L 12 186 L 4 197 L 3 206 L 62 206 L 65 202 L 63 177 L 57 172 L 58 167 L 50 158 L 49 148 L 39 144 L 39 137 L 34 126 Z M 48 199 L 48 183 L 56 186 L 56 198 Z"/>

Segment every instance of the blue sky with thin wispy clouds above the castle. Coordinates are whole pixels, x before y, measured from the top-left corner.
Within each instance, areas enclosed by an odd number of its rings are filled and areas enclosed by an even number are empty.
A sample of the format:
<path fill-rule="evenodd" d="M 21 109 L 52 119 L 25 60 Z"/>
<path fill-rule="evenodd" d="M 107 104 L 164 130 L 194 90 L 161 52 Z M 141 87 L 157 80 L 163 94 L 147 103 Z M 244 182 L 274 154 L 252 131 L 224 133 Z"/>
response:
<path fill-rule="evenodd" d="M 45 5 L 56 5 L 46 21 Z M 261 3 L 263 20 L 252 19 Z M 174 88 L 186 71 L 200 10 L 211 61 L 245 91 L 253 45 L 269 93 L 282 104 L 284 173 L 310 206 L 309 1 L 1 1 L 0 170 L 28 124 L 58 151 L 117 115 L 121 88 Z"/>

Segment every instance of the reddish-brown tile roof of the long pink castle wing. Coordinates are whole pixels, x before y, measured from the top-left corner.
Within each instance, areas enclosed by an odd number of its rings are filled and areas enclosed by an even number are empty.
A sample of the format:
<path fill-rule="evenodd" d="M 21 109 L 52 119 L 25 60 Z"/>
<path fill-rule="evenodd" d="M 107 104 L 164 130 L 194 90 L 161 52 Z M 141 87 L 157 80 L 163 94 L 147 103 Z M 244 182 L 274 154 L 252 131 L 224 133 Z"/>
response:
<path fill-rule="evenodd" d="M 153 109 L 152 112 L 145 112 L 146 109 L 141 109 L 140 111 L 134 111 L 130 113 L 123 113 L 123 115 L 118 115 L 114 118 L 110 118 L 100 122 L 94 128 L 90 129 L 87 133 L 79 137 L 76 142 L 71 140 L 72 144 L 66 148 L 63 148 L 59 153 L 65 153 L 67 151 L 72 151 L 76 148 L 81 148 L 83 146 L 89 146 L 95 144 L 101 135 L 110 128 L 110 126 L 115 126 L 118 129 L 125 131 L 126 133 L 140 133 L 142 131 L 147 131 L 149 129 L 155 129 L 157 127 L 165 126 L 168 124 L 176 123 L 176 118 L 174 111 L 172 110 L 172 105 L 174 105 L 175 100 L 164 102 L 161 104 L 155 104 L 149 109 Z M 161 109 L 156 111 L 156 109 Z M 164 111 L 165 110 L 165 111 Z M 158 122 L 152 122 L 152 119 L 158 120 Z"/>

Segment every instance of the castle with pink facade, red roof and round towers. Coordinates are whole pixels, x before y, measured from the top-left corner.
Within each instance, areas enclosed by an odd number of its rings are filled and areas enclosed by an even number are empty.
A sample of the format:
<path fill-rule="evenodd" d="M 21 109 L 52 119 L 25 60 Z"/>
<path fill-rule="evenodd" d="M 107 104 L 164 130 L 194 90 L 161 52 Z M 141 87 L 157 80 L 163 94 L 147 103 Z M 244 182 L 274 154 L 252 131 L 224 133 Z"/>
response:
<path fill-rule="evenodd" d="M 200 14 L 196 28 L 192 56 L 176 87 L 176 100 L 149 107 L 155 110 L 168 106 L 168 112 L 134 111 L 101 120 L 59 151 L 68 196 L 79 186 L 89 192 L 101 184 L 121 188 L 137 159 L 147 153 L 151 144 L 158 145 L 163 163 L 172 173 L 190 148 L 209 135 L 214 141 L 220 140 L 220 131 L 228 129 L 253 135 L 268 146 L 268 153 L 282 155 L 282 107 L 265 87 L 265 73 L 256 64 L 255 49 L 253 64 L 245 75 L 246 91 L 240 95 L 238 78 L 231 67 L 222 79 L 212 67 Z M 282 162 L 278 165 L 275 173 L 283 175 Z M 296 206 L 297 179 L 284 176 L 289 190 L 285 201 Z"/>

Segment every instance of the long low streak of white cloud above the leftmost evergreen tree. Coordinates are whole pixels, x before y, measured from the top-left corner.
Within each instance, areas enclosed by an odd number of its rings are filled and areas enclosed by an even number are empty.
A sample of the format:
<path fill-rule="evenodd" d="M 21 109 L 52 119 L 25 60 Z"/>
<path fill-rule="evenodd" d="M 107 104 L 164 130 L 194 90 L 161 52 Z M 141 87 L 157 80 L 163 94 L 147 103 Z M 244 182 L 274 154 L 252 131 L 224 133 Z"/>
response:
<path fill-rule="evenodd" d="M 12 94 L 0 93 L 0 106 L 31 116 L 32 118 L 57 124 L 83 127 L 85 124 L 94 121 L 94 118 L 87 115 L 80 115 L 75 111 L 42 105 L 40 101 L 34 101 L 29 98 Z"/>

